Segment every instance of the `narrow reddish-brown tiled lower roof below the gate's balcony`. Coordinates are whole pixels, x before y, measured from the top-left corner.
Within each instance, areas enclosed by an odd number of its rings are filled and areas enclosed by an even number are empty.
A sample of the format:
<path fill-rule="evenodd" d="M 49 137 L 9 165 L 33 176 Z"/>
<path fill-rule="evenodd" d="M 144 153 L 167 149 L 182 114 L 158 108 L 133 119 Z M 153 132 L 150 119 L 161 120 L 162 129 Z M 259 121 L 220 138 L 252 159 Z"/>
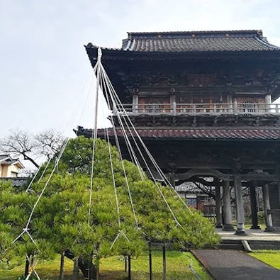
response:
<path fill-rule="evenodd" d="M 189 139 L 189 140 L 280 140 L 280 129 L 267 128 L 196 128 L 196 129 L 137 129 L 138 134 L 144 139 Z M 113 129 L 108 128 L 108 133 L 113 137 Z M 123 137 L 121 129 L 116 129 L 118 136 Z M 135 133 L 133 133 L 135 134 Z M 77 135 L 91 137 L 91 129 L 79 127 Z M 98 135 L 103 138 L 104 130 L 99 129 Z M 129 133 L 128 133 L 129 135 Z"/>

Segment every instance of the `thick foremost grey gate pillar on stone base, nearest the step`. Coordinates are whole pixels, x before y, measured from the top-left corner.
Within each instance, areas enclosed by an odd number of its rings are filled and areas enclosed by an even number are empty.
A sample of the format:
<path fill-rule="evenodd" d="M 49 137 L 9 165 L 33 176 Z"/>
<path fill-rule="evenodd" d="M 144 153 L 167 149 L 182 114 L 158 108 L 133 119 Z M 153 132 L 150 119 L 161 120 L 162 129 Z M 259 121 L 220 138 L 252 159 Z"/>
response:
<path fill-rule="evenodd" d="M 235 186 L 235 201 L 236 201 L 236 215 L 237 215 L 237 230 L 236 235 L 245 235 L 245 216 L 244 216 L 244 205 L 242 198 L 242 183 L 240 174 L 234 175 L 234 186 Z"/>

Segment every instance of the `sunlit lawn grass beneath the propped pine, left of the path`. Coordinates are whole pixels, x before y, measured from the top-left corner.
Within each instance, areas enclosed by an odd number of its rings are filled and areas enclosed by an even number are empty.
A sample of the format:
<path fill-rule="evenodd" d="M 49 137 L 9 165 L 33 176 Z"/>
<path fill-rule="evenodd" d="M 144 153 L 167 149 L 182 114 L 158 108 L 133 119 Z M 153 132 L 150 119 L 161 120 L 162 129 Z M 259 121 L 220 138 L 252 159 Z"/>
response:
<path fill-rule="evenodd" d="M 206 270 L 201 266 L 198 260 L 191 252 L 167 251 L 167 279 L 169 280 L 195 280 L 196 277 L 189 269 L 189 264 L 193 259 L 193 267 L 196 273 L 203 280 L 212 279 Z M 60 271 L 60 256 L 53 261 L 45 261 L 36 266 L 36 271 L 42 280 L 57 279 Z M 65 280 L 72 279 L 73 262 L 65 258 Z M 162 279 L 162 252 L 152 251 L 152 269 L 153 279 Z M 138 259 L 131 260 L 132 279 L 146 280 L 149 279 L 149 258 L 145 253 Z M 11 269 L 10 271 L 0 270 L 0 280 L 15 280 L 17 276 L 23 274 L 24 265 Z M 101 279 L 103 280 L 124 280 L 127 274 L 124 271 L 123 257 L 108 257 L 101 259 L 100 265 Z M 81 278 L 82 273 L 81 273 Z"/>

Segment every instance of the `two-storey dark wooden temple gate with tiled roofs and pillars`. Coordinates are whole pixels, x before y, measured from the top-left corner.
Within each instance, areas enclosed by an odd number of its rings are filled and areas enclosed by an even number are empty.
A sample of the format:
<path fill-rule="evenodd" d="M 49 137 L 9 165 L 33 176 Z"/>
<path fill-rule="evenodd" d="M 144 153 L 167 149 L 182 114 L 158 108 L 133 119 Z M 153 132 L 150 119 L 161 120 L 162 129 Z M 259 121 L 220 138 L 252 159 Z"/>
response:
<path fill-rule="evenodd" d="M 97 47 L 89 43 L 86 52 L 94 66 Z M 262 186 L 266 230 L 280 230 L 280 104 L 272 103 L 280 96 L 280 47 L 261 30 L 198 31 L 128 33 L 121 49 L 102 52 L 125 110 L 169 181 L 215 186 L 223 230 L 233 230 L 233 187 L 237 234 L 245 234 L 242 188 L 250 188 L 257 229 L 255 187 Z M 118 127 L 116 133 L 125 149 Z M 92 132 L 79 127 L 77 135 Z M 109 135 L 113 141 L 112 129 Z"/>

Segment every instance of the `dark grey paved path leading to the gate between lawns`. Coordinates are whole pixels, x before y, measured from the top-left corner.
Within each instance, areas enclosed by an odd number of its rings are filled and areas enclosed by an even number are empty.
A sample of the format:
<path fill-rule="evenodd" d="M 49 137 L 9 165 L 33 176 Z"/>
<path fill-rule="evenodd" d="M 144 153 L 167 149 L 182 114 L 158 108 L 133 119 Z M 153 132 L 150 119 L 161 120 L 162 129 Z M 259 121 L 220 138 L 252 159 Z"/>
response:
<path fill-rule="evenodd" d="M 237 250 L 193 250 L 216 280 L 279 280 L 280 270 Z"/>

